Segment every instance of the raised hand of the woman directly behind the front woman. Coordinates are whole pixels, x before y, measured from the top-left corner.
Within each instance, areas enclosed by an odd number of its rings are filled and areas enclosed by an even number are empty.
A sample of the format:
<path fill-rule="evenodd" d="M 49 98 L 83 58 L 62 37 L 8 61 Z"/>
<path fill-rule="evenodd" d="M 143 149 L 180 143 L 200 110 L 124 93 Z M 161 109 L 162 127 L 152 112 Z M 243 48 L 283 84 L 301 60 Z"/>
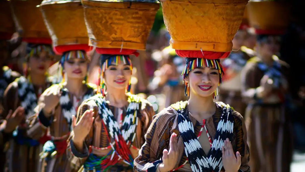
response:
<path fill-rule="evenodd" d="M 76 123 L 75 116 L 72 116 L 72 128 L 74 131 L 74 142 L 83 142 L 86 136 L 89 134 L 92 123 L 94 120 L 94 112 L 93 109 L 86 110 L 84 114 L 81 116 L 81 119 Z"/>

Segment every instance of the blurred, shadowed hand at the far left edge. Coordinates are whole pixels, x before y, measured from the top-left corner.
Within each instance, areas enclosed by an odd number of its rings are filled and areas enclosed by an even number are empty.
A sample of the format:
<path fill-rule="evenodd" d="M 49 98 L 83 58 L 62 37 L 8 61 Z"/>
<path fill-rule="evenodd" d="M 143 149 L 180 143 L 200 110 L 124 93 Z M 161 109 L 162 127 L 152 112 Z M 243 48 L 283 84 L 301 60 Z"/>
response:
<path fill-rule="evenodd" d="M 13 113 L 12 110 L 9 110 L 9 114 L 6 117 L 6 126 L 4 129 L 5 133 L 13 132 L 16 127 L 21 123 L 24 118 L 24 108 L 19 106 L 15 112 Z"/>

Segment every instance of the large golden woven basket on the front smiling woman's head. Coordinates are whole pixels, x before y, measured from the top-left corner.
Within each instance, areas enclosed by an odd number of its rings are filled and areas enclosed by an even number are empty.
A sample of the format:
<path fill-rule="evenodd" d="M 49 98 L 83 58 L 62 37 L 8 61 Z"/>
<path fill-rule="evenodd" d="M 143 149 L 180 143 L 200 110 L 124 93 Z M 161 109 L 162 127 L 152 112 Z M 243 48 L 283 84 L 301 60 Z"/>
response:
<path fill-rule="evenodd" d="M 228 52 L 248 0 L 161 0 L 173 49 Z"/>

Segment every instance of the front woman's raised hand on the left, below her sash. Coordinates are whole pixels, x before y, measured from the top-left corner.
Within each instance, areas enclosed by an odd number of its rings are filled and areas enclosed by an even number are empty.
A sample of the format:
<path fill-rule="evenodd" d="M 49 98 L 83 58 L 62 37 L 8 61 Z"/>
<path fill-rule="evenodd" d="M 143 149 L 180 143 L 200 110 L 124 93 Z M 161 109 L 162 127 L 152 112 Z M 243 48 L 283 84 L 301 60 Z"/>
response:
<path fill-rule="evenodd" d="M 160 172 L 166 172 L 173 170 L 178 161 L 178 143 L 177 143 L 177 134 L 173 133 L 170 136 L 170 149 L 167 151 L 163 150 L 163 163 L 159 165 Z"/>

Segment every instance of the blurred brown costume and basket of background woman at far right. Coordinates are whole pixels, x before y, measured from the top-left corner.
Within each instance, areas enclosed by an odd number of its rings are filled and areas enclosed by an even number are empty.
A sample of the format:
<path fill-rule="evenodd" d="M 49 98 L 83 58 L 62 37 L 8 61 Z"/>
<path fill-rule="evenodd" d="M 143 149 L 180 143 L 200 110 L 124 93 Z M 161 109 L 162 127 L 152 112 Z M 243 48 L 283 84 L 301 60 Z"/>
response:
<path fill-rule="evenodd" d="M 257 42 L 267 43 L 269 36 L 280 35 L 287 26 L 288 6 L 281 2 L 249 2 L 249 20 L 255 27 Z M 259 11 L 270 11 L 260 13 Z M 264 15 L 264 18 L 261 16 Z M 275 55 L 267 65 L 260 54 L 248 60 L 242 70 L 242 95 L 248 103 L 246 126 L 249 133 L 251 171 L 289 172 L 292 159 L 292 135 L 289 114 L 285 109 L 285 91 L 289 66 Z M 257 97 L 261 79 L 267 75 L 273 82 L 271 93 Z M 286 88 L 287 89 L 287 88 Z"/>

